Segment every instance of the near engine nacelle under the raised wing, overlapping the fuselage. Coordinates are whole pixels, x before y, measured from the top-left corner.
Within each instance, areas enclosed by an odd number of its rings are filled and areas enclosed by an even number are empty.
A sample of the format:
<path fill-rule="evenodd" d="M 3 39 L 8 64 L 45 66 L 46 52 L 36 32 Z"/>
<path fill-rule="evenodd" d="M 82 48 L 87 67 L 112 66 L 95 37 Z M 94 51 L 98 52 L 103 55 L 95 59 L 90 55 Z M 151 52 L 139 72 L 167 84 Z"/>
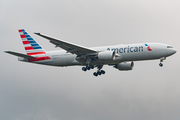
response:
<path fill-rule="evenodd" d="M 103 51 L 98 54 L 98 59 L 100 60 L 114 60 L 115 51 Z"/>

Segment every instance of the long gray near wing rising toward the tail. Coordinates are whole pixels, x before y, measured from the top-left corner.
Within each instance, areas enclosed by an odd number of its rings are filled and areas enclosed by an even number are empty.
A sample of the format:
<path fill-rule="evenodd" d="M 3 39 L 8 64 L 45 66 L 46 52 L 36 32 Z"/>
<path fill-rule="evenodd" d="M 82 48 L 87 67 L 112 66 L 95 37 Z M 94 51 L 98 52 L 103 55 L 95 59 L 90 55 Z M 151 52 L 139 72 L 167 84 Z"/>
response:
<path fill-rule="evenodd" d="M 94 54 L 94 53 L 98 52 L 97 50 L 87 48 L 87 47 L 83 47 L 83 46 L 80 46 L 80 45 L 76 45 L 76 44 L 73 44 L 73 43 L 69 43 L 69 42 L 59 40 L 59 39 L 56 39 L 56 38 L 52 38 L 52 37 L 49 37 L 47 35 L 43 35 L 41 33 L 34 33 L 34 34 L 48 39 L 52 44 L 56 45 L 56 47 L 60 47 L 60 48 L 66 50 L 67 52 L 70 52 L 72 54 L 91 55 L 91 54 Z"/>

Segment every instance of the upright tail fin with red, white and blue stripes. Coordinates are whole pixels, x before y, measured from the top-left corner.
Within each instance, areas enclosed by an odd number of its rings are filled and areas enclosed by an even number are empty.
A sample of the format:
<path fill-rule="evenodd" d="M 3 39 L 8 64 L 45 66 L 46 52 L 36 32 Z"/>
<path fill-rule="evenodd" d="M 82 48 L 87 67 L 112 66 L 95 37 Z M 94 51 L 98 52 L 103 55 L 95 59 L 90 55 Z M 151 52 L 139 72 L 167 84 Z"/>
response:
<path fill-rule="evenodd" d="M 25 51 L 30 56 L 45 56 L 45 50 L 24 30 L 19 30 Z"/>

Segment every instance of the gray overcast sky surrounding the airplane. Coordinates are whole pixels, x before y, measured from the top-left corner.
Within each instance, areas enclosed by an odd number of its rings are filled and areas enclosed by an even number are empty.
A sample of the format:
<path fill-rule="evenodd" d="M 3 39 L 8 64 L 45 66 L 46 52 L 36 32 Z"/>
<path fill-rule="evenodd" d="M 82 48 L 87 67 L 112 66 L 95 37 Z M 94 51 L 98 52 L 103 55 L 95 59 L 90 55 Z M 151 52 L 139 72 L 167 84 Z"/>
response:
<path fill-rule="evenodd" d="M 179 0 L 1 0 L 1 120 L 179 120 Z M 177 49 L 164 67 L 135 62 L 106 75 L 81 67 L 22 63 L 4 50 L 25 53 L 18 29 L 45 50 L 59 50 L 41 32 L 86 47 L 158 42 Z"/>

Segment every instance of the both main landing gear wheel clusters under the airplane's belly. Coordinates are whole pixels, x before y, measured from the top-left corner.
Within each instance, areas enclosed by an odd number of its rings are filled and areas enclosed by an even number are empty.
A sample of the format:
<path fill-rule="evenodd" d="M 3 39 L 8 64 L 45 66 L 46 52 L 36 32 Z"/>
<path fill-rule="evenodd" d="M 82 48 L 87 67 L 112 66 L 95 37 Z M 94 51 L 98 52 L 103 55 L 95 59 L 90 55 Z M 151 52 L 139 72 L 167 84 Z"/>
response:
<path fill-rule="evenodd" d="M 98 75 L 102 75 L 102 74 L 105 74 L 105 71 L 104 70 L 101 70 L 103 65 L 98 65 L 96 66 L 97 67 L 97 72 L 94 72 L 93 75 L 94 76 L 98 76 Z M 83 71 L 87 71 L 87 70 L 90 70 L 90 69 L 94 69 L 94 66 L 93 65 L 87 65 L 86 67 L 83 67 L 82 70 Z"/>

